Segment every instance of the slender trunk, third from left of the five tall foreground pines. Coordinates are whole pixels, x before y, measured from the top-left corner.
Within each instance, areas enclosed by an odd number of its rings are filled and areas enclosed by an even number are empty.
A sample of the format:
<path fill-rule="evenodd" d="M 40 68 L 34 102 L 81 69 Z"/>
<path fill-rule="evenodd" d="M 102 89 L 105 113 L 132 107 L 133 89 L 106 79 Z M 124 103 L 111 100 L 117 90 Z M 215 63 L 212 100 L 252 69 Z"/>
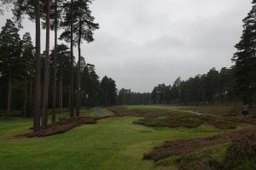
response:
<path fill-rule="evenodd" d="M 58 16 L 57 16 L 57 0 L 55 0 L 55 59 L 54 59 L 54 84 L 53 84 L 53 104 L 52 104 L 52 119 L 55 122 L 55 107 L 56 107 L 56 79 L 57 79 L 57 42 L 58 41 Z"/>

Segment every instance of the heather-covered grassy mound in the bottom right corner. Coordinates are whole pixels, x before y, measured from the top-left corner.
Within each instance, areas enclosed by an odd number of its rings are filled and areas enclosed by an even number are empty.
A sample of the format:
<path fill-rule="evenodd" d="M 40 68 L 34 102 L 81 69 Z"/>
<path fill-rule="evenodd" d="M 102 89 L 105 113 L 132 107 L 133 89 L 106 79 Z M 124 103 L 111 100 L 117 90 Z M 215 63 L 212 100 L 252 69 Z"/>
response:
<path fill-rule="evenodd" d="M 256 169 L 256 128 L 206 138 L 166 141 L 144 154 L 158 166 L 180 170 Z"/>

